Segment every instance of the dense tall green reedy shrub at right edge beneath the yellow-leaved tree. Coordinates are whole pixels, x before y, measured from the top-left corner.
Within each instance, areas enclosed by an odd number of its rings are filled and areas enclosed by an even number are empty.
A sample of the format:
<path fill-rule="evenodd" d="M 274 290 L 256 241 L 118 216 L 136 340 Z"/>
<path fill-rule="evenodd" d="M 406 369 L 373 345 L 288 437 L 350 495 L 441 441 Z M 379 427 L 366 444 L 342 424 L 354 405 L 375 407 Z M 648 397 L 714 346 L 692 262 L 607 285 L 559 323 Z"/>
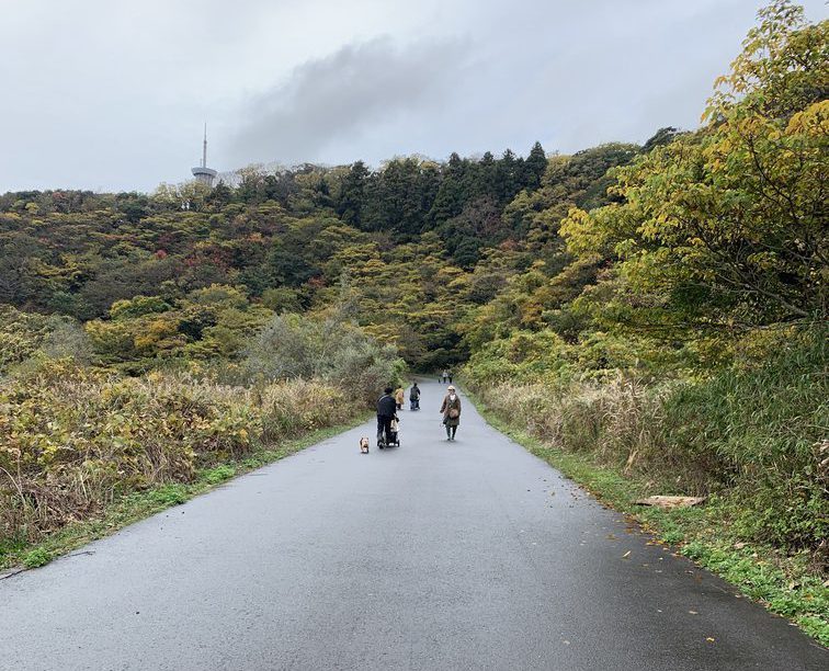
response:
<path fill-rule="evenodd" d="M 816 549 L 829 536 L 827 342 L 824 329 L 804 333 L 762 365 L 666 397 L 662 440 L 709 462 L 711 486 L 731 493 L 734 528 L 747 539 Z"/>

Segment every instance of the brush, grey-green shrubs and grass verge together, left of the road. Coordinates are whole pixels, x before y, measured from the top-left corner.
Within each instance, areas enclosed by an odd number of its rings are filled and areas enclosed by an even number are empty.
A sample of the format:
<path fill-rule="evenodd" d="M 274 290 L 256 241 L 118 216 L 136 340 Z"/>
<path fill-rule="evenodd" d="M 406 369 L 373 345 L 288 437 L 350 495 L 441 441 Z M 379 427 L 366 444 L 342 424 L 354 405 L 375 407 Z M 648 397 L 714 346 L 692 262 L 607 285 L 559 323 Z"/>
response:
<path fill-rule="evenodd" d="M 82 336 L 76 355 L 55 351 L 56 334 L 66 344 L 64 320 L 13 309 L 4 317 L 0 337 L 18 346 L 0 383 L 0 568 L 45 564 L 76 539 L 181 503 L 287 454 L 292 442 L 362 418 L 366 396 L 354 388 L 375 382 L 365 375 L 385 384 L 404 369 L 394 349 L 355 327 L 341 323 L 348 336 L 327 338 L 336 314 L 319 325 L 294 320 L 302 354 L 293 359 L 258 338 L 236 362 L 163 361 L 138 376 L 103 364 L 109 354 Z M 271 374 L 272 356 L 299 371 L 322 343 L 330 363 L 313 376 Z"/>

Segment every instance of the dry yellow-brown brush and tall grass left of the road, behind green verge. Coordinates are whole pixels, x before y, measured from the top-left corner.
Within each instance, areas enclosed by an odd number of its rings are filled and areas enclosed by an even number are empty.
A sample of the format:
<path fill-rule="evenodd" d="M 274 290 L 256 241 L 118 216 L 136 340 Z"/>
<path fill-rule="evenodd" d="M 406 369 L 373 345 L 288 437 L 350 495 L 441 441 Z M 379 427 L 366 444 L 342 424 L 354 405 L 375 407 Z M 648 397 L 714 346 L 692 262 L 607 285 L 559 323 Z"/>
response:
<path fill-rule="evenodd" d="M 0 386 L 0 542 L 36 539 L 126 493 L 190 482 L 198 469 L 356 410 L 316 382 L 249 389 L 53 362 Z"/>

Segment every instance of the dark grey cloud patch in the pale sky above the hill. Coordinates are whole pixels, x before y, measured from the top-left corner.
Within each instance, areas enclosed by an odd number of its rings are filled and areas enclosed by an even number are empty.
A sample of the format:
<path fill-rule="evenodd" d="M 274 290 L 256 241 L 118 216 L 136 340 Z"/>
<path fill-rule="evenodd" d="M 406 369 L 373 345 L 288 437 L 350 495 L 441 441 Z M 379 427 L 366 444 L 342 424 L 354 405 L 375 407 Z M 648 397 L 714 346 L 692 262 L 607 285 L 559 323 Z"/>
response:
<path fill-rule="evenodd" d="M 334 144 L 440 105 L 465 62 L 458 42 L 399 46 L 381 38 L 342 47 L 250 100 L 226 153 L 238 164 L 319 160 Z"/>

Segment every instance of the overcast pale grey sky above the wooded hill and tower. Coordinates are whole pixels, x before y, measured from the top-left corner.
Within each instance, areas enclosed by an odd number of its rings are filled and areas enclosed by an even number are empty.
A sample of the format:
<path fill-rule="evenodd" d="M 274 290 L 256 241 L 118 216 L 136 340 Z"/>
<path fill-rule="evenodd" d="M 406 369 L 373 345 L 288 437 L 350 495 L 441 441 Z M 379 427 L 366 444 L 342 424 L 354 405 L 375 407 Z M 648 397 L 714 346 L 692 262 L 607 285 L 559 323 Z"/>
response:
<path fill-rule="evenodd" d="M 763 0 L 0 0 L 0 193 L 696 126 Z M 824 0 L 806 0 L 810 20 Z"/>

